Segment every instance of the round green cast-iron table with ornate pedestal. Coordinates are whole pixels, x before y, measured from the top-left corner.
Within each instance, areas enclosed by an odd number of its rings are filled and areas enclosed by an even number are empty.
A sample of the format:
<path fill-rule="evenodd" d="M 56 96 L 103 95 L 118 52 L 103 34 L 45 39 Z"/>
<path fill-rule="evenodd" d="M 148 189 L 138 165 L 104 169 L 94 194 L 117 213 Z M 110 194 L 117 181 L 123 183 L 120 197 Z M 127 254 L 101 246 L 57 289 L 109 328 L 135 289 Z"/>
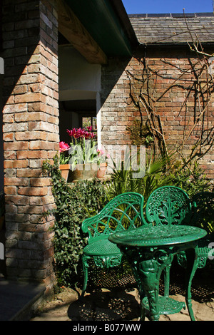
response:
<path fill-rule="evenodd" d="M 116 243 L 131 264 L 141 297 L 141 320 L 149 309 L 150 319 L 158 321 L 160 314 L 178 313 L 185 303 L 159 296 L 161 272 L 178 252 L 187 257 L 185 302 L 190 319 L 195 321 L 191 302 L 191 282 L 197 268 L 198 239 L 207 233 L 198 227 L 183 225 L 143 226 L 135 230 L 116 232 L 108 239 Z"/>

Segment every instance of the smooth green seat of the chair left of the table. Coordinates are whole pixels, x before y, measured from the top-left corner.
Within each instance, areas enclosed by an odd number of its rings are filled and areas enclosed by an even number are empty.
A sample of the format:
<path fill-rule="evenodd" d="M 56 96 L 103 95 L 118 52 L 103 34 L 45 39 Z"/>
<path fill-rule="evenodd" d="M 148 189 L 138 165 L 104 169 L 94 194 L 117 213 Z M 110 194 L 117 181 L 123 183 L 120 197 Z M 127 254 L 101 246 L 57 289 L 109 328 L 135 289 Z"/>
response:
<path fill-rule="evenodd" d="M 87 244 L 83 249 L 83 254 L 87 254 L 88 256 L 111 256 L 121 254 L 121 252 L 116 244 L 108 241 L 106 238 Z"/>

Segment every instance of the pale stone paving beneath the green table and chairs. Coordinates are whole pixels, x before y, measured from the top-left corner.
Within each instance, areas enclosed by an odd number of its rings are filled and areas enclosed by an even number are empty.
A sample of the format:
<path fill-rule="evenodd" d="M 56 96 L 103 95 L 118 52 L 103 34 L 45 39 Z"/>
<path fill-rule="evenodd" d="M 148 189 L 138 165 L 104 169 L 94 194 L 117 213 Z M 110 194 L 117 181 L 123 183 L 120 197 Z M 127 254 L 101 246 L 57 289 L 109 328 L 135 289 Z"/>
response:
<path fill-rule="evenodd" d="M 170 297 L 185 301 L 180 283 L 172 283 Z M 80 297 L 81 291 L 64 289 L 56 299 L 47 301 L 31 321 L 138 321 L 138 291 L 132 289 L 100 289 Z M 197 321 L 214 321 L 214 285 L 200 279 L 192 287 L 193 311 Z M 148 318 L 146 318 L 148 320 Z M 187 309 L 161 315 L 160 321 L 190 321 Z"/>

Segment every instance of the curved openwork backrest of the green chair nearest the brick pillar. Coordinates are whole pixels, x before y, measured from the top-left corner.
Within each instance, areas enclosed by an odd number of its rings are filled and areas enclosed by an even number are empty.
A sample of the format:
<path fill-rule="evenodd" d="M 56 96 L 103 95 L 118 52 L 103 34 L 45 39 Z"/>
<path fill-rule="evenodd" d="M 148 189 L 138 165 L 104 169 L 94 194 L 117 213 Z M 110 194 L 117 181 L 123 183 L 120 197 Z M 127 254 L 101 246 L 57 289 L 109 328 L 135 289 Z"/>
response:
<path fill-rule="evenodd" d="M 82 223 L 83 232 L 88 232 L 88 243 L 104 239 L 118 230 L 129 230 L 140 227 L 146 222 L 143 219 L 143 195 L 126 192 L 113 200 L 94 217 Z"/>

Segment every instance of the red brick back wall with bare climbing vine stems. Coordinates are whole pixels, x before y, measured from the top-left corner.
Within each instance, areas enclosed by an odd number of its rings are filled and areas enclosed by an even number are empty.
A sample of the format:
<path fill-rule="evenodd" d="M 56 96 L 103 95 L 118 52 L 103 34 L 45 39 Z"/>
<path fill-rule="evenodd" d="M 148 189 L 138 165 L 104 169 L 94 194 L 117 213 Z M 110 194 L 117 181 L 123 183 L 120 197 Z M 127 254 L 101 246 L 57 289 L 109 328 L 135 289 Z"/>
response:
<path fill-rule="evenodd" d="M 212 51 L 211 51 L 212 53 Z M 169 149 L 178 148 L 185 139 L 182 154 L 189 157 L 195 141 L 204 140 L 207 130 L 213 127 L 214 103 L 210 101 L 203 118 L 194 128 L 193 133 L 187 138 L 188 133 L 195 124 L 203 104 L 198 107 L 195 100 L 195 87 L 197 80 L 195 72 L 190 70 L 191 64 L 197 63 L 194 70 L 199 71 L 200 63 L 194 54 L 187 50 L 152 51 L 147 53 L 146 63 L 149 71 L 149 81 L 143 64 L 144 53 L 119 62 L 112 58 L 108 66 L 102 72 L 102 108 L 101 108 L 101 141 L 103 145 L 130 145 L 130 133 L 127 126 L 133 125 L 133 121 L 140 120 L 140 113 L 130 96 L 130 83 L 133 76 L 140 78 L 141 82 L 134 81 L 135 91 L 138 93 L 143 86 L 143 91 L 152 96 L 151 105 L 154 113 L 161 118 L 165 142 Z M 201 61 L 203 63 L 203 61 Z M 144 71 L 143 71 L 144 69 Z M 132 76 L 127 75 L 127 71 Z M 199 72 L 198 72 L 199 73 Z M 112 76 L 113 74 L 113 76 Z M 182 76 L 181 76 L 182 75 Z M 200 83 L 205 86 L 205 71 L 200 76 Z M 179 81 L 175 81 L 180 78 Z M 148 86 L 147 86 L 148 83 Z M 189 88 L 192 90 L 189 92 Z M 167 90 L 168 88 L 168 90 Z M 148 91 L 147 91 L 148 90 Z M 166 91 L 167 90 L 167 91 Z M 205 91 L 205 88 L 204 88 Z M 165 93 L 164 93 L 165 92 Z M 164 94 L 163 94 L 164 93 Z M 163 96 L 161 96 L 163 94 Z M 135 95 L 133 94 L 133 97 Z M 145 95 L 146 96 L 146 95 Z M 158 97 L 161 97 L 158 99 Z M 207 98 L 206 93 L 204 98 Z M 157 100 L 158 99 L 158 100 Z M 141 105 L 144 122 L 147 120 L 146 108 L 143 107 L 141 99 L 135 99 Z M 158 119 L 156 120 L 158 123 Z M 202 131 L 203 129 L 203 131 Z M 158 130 L 160 130 L 158 128 Z M 109 135 L 109 133 L 111 135 Z M 210 133 L 210 143 L 213 132 Z M 209 145 L 203 148 L 208 148 Z M 200 159 L 200 165 L 205 169 L 210 179 L 214 177 L 213 170 L 214 151 L 210 150 Z"/>

